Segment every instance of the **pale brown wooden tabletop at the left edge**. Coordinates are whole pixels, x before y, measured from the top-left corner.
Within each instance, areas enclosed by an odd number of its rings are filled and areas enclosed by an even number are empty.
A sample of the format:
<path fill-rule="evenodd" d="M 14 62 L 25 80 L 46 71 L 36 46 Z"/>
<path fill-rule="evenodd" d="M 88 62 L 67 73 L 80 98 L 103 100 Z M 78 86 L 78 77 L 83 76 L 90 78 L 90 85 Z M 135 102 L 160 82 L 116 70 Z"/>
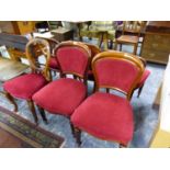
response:
<path fill-rule="evenodd" d="M 29 66 L 21 64 L 20 61 L 0 57 L 0 81 L 4 82 L 20 76 L 27 68 Z"/>

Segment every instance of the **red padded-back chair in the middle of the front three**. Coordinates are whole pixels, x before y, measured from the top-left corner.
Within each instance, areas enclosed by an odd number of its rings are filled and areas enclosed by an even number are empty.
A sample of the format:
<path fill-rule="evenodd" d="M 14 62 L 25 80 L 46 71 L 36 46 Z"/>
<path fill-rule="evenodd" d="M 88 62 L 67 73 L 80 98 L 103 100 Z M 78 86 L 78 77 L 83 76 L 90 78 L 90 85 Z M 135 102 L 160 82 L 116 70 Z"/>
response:
<path fill-rule="evenodd" d="M 33 97 L 44 122 L 47 123 L 44 110 L 69 118 L 86 99 L 90 55 L 88 46 L 78 42 L 63 42 L 56 47 L 61 78 L 48 83 Z"/>

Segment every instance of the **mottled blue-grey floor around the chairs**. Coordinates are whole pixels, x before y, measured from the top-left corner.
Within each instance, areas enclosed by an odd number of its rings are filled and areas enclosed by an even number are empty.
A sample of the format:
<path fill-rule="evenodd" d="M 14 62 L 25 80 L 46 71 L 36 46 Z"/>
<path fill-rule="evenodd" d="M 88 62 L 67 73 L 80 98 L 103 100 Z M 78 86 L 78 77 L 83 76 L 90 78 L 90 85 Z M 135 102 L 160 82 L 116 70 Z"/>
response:
<path fill-rule="evenodd" d="M 84 38 L 83 41 L 89 42 L 87 38 Z M 93 41 L 92 43 L 95 44 L 97 42 Z M 123 50 L 131 53 L 133 49 L 129 46 L 123 46 Z M 134 138 L 129 144 L 129 147 L 133 148 L 148 147 L 152 133 L 158 124 L 158 110 L 152 109 L 152 103 L 156 98 L 157 90 L 161 83 L 166 66 L 148 64 L 147 68 L 151 71 L 151 75 L 146 81 L 141 95 L 138 99 L 137 93 L 135 92 L 131 102 L 134 107 L 134 118 L 135 118 Z M 92 86 L 93 82 L 89 82 L 89 94 L 92 91 Z M 18 101 L 18 104 L 19 104 L 19 114 L 33 122 L 33 117 L 27 109 L 26 102 Z M 0 97 L 0 105 L 9 110 L 12 110 L 12 105 L 9 104 L 9 102 L 3 97 Z M 77 147 L 77 144 L 71 135 L 69 122 L 67 118 L 52 114 L 47 114 L 47 118 L 49 121 L 48 125 L 44 124 L 39 116 L 41 127 L 54 134 L 63 136 L 65 138 L 64 147 L 66 148 Z M 117 147 L 117 144 L 100 140 L 88 135 L 87 133 L 82 133 L 81 147 L 114 148 Z"/>

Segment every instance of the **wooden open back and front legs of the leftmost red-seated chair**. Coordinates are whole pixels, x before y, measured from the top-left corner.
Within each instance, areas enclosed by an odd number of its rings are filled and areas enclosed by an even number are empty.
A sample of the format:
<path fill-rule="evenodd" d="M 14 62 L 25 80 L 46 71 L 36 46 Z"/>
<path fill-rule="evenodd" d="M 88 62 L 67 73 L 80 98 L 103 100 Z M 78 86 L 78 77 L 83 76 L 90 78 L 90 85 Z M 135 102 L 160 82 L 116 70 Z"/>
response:
<path fill-rule="evenodd" d="M 30 50 L 30 47 L 32 45 L 34 46 L 34 54 L 32 54 L 33 52 Z M 33 38 L 26 44 L 25 50 L 26 50 L 26 57 L 30 63 L 31 72 L 42 73 L 47 81 L 50 81 L 50 75 L 48 71 L 49 70 L 48 63 L 49 63 L 49 58 L 50 58 L 50 52 L 49 52 L 48 42 L 46 42 L 45 39 L 42 39 L 42 38 Z M 37 58 L 38 58 L 39 54 L 43 54 L 44 56 L 46 56 L 46 64 L 45 64 L 44 68 L 39 68 L 37 65 L 38 64 Z M 33 55 L 35 55 L 35 58 L 33 57 Z M 14 101 L 14 97 L 12 97 L 7 91 L 5 91 L 5 97 L 11 102 L 11 104 L 13 104 L 14 112 L 18 112 L 18 104 Z M 27 102 L 30 111 L 33 114 L 34 121 L 37 124 L 38 118 L 36 115 L 34 102 L 32 100 L 26 100 L 26 102 Z"/>

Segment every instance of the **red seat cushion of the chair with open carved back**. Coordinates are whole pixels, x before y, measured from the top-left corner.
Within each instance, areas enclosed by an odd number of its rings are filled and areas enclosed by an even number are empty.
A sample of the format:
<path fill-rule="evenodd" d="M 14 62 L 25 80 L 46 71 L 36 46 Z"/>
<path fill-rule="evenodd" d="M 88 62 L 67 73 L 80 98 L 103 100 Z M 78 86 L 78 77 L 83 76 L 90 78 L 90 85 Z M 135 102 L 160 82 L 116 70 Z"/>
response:
<path fill-rule="evenodd" d="M 32 95 L 47 83 L 38 73 L 27 73 L 3 83 L 3 88 L 11 95 L 19 99 L 32 99 Z"/>

